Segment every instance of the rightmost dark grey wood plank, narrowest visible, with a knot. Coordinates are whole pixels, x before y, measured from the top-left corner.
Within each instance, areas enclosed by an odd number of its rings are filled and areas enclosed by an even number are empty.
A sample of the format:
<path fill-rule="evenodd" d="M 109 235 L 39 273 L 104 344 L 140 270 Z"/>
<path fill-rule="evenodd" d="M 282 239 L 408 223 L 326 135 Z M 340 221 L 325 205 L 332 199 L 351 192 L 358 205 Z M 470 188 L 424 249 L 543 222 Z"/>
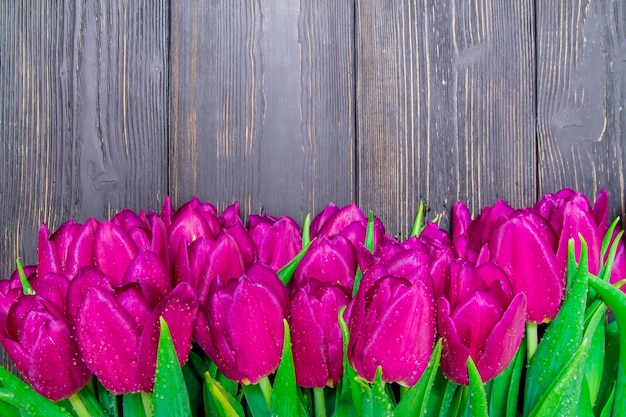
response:
<path fill-rule="evenodd" d="M 540 193 L 606 188 L 624 220 L 626 4 L 538 2 L 537 16 Z"/>

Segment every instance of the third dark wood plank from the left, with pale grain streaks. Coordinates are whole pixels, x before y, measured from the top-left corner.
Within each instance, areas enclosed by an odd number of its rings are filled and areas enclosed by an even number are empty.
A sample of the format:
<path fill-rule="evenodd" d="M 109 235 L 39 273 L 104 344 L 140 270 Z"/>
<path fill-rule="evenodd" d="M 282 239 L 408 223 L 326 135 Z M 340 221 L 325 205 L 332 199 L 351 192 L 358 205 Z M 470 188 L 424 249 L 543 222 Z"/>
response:
<path fill-rule="evenodd" d="M 446 217 L 534 199 L 533 2 L 360 1 L 359 202 L 406 236 L 420 200 Z"/>

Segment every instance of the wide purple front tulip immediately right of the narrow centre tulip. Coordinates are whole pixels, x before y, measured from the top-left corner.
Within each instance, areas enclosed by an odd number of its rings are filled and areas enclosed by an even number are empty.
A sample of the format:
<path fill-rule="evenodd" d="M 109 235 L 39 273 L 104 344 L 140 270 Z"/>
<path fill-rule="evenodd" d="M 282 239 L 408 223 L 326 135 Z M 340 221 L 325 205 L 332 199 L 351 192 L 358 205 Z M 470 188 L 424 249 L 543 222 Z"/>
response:
<path fill-rule="evenodd" d="M 372 381 L 412 386 L 426 369 L 435 343 L 435 308 L 421 280 L 387 276 L 364 292 L 360 287 L 350 311 L 348 359 Z"/>

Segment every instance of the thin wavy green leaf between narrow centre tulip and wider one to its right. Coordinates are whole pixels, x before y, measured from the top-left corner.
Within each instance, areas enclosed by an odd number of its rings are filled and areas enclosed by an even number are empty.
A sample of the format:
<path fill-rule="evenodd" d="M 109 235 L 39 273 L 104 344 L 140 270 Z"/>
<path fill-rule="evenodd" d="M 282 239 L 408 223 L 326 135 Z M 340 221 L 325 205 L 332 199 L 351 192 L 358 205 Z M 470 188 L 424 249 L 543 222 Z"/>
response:
<path fill-rule="evenodd" d="M 358 377 L 357 372 L 354 370 L 350 361 L 348 360 L 348 342 L 350 340 L 350 332 L 348 325 L 343 318 L 343 313 L 346 307 L 342 307 L 339 310 L 337 319 L 339 321 L 339 327 L 341 328 L 341 335 L 343 338 L 343 377 L 341 382 L 337 385 L 337 404 L 335 407 L 335 417 L 340 416 L 361 416 L 361 386 L 355 382 L 355 378 Z"/>

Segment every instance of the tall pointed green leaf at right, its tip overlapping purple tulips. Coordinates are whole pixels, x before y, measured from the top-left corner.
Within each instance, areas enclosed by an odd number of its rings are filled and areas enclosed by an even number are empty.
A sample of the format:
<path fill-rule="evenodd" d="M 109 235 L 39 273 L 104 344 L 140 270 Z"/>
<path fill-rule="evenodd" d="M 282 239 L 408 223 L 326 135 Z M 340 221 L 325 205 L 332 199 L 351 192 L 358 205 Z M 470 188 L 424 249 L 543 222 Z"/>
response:
<path fill-rule="evenodd" d="M 524 392 L 524 417 L 535 408 L 548 387 L 560 378 L 563 368 L 580 346 L 584 331 L 588 273 L 587 245 L 584 240 L 581 243 L 580 264 L 573 274 L 572 288 L 529 361 Z M 574 257 L 572 240 L 569 242 L 568 255 L 571 263 Z M 571 269 L 568 272 L 573 273 Z"/>

